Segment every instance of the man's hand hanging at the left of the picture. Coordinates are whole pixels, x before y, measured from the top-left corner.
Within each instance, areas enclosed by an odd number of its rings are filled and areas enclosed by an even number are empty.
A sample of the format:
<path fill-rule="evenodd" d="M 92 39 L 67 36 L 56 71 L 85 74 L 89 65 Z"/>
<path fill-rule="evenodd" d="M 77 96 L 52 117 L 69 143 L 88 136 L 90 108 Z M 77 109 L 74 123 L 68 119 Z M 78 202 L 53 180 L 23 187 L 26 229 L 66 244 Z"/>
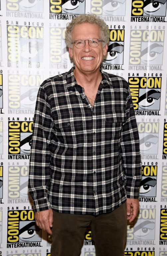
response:
<path fill-rule="evenodd" d="M 36 212 L 35 213 L 36 224 L 39 228 L 52 235 L 51 227 L 53 226 L 53 211 L 52 209 Z"/>

